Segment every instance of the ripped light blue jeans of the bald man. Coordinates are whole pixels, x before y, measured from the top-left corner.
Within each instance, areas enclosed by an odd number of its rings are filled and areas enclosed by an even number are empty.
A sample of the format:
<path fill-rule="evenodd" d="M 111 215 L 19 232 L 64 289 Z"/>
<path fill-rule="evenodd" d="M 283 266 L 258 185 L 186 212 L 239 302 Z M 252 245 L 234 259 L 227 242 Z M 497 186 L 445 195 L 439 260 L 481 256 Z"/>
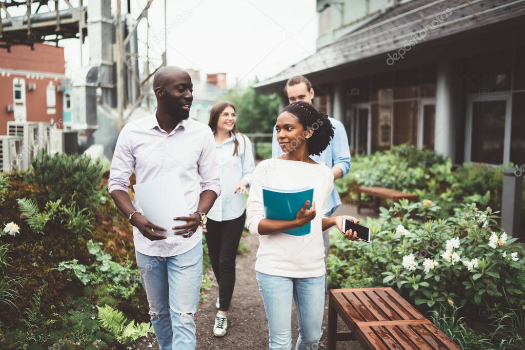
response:
<path fill-rule="evenodd" d="M 173 257 L 154 257 L 136 250 L 135 254 L 160 349 L 195 349 L 202 241 Z"/>

